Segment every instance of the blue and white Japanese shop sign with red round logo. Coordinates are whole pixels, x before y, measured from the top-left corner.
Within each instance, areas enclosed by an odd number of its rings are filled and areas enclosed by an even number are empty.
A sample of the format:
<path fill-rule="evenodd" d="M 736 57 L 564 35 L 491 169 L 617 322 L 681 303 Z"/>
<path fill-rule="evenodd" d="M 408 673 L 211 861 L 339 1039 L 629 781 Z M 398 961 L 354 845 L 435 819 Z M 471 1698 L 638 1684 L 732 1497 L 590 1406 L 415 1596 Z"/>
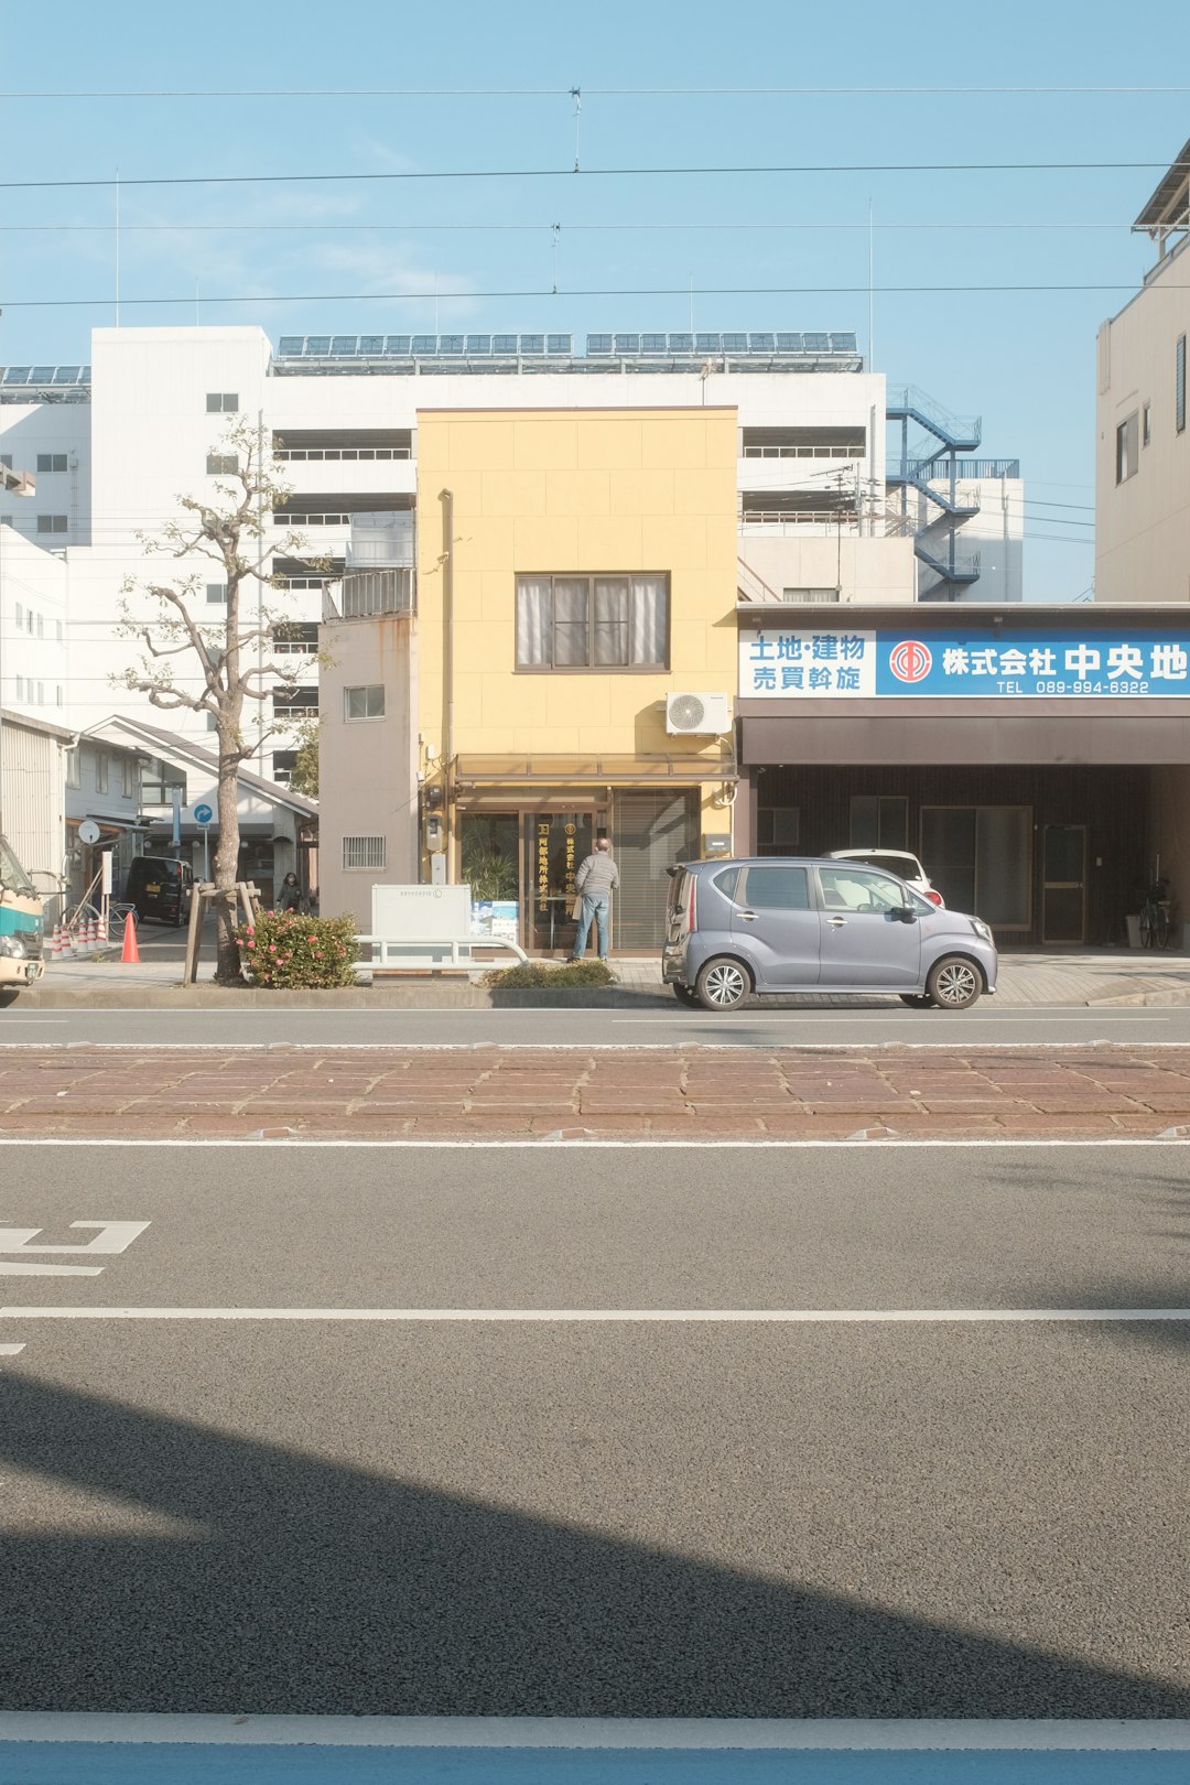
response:
<path fill-rule="evenodd" d="M 1190 632 L 801 632 L 740 635 L 740 698 L 1169 698 L 1190 694 Z"/>

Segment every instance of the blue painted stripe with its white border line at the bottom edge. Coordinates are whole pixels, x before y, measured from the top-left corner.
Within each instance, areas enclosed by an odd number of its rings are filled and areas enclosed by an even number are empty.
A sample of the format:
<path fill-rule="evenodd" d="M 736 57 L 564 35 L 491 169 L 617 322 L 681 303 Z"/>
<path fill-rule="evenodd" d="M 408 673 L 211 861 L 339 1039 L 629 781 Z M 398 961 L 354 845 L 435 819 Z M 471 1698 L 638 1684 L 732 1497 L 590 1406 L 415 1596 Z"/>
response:
<path fill-rule="evenodd" d="M 0 1785 L 1185 1785 L 1190 1723 L 0 1712 Z"/>

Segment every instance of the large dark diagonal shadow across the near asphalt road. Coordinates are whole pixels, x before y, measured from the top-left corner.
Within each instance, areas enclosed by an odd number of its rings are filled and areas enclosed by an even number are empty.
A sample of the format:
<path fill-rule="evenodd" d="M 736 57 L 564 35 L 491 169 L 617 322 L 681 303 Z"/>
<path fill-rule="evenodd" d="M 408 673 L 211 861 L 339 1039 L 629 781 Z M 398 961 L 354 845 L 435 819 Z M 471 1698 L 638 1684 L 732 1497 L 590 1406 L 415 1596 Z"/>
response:
<path fill-rule="evenodd" d="M 0 1382 L 0 1480 L 4 1465 L 202 1533 L 9 1533 L 7 1710 L 1190 1715 L 1190 1690 L 1126 1669 L 789 1589 L 30 1376 Z"/>

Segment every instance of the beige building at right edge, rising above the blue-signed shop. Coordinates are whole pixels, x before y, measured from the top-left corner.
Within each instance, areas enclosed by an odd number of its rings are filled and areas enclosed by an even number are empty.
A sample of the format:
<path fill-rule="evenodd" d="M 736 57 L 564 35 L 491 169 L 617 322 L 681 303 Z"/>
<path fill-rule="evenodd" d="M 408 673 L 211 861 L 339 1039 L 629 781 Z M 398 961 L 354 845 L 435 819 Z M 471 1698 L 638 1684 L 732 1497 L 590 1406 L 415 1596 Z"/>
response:
<path fill-rule="evenodd" d="M 1133 228 L 1158 261 L 1099 330 L 1095 600 L 1190 602 L 1190 143 Z"/>

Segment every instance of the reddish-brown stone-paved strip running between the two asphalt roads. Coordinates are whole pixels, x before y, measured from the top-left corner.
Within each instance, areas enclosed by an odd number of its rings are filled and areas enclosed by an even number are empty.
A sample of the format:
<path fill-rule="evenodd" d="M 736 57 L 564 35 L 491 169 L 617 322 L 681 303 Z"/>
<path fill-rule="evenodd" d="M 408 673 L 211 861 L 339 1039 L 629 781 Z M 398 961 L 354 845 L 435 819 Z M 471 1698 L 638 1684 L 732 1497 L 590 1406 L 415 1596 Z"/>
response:
<path fill-rule="evenodd" d="M 0 1135 L 79 1139 L 1144 1137 L 1190 1046 L 0 1048 Z"/>

